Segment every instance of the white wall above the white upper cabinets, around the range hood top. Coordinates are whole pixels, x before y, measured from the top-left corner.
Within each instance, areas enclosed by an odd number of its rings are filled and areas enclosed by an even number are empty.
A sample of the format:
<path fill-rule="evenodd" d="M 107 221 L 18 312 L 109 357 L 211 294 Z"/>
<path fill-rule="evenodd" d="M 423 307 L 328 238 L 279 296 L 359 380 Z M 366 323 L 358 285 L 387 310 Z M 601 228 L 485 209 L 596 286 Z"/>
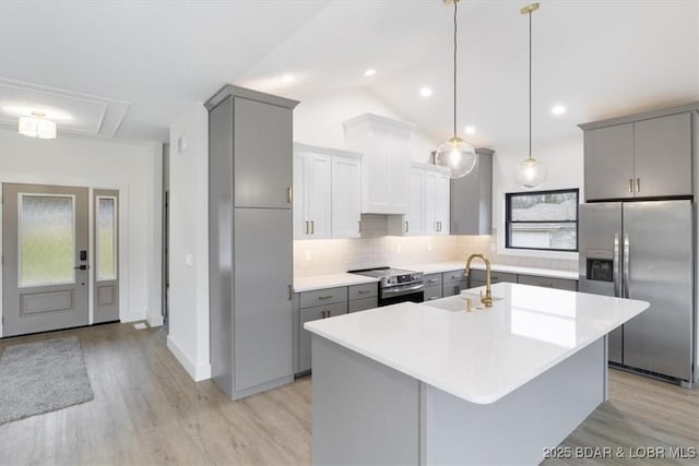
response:
<path fill-rule="evenodd" d="M 294 110 L 294 141 L 323 147 L 346 148 L 342 123 L 364 113 L 376 113 L 406 121 L 375 94 L 355 88 L 301 100 Z M 419 128 L 416 128 L 411 140 L 411 159 L 429 162 L 430 152 L 439 144 L 430 141 Z"/>

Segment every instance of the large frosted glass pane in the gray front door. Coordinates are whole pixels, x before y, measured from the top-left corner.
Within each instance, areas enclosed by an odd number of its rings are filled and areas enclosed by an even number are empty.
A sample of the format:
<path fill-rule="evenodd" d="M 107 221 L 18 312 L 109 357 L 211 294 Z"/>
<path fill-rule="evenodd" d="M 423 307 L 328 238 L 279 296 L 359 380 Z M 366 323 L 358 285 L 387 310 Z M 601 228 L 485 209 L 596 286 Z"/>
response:
<path fill-rule="evenodd" d="M 75 280 L 74 199 L 20 194 L 20 286 Z"/>

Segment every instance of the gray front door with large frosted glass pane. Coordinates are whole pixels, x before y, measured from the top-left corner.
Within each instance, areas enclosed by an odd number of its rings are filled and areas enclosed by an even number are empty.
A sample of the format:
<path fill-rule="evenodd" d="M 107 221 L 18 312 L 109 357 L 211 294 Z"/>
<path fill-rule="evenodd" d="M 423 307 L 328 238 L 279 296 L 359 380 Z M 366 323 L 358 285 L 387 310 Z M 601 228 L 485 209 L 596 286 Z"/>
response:
<path fill-rule="evenodd" d="M 2 186 L 3 336 L 87 325 L 88 190 Z"/>

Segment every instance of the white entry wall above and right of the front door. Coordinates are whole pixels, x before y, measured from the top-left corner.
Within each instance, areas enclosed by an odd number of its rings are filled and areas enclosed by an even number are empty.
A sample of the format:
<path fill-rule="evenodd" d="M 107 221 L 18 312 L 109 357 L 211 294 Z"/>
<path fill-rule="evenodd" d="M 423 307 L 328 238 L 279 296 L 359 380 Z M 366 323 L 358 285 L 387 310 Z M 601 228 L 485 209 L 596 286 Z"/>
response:
<path fill-rule="evenodd" d="M 162 157 L 156 142 L 35 140 L 0 129 L 0 182 L 118 189 L 119 318 L 161 325 Z M 1 248 L 1 246 L 0 246 Z"/>

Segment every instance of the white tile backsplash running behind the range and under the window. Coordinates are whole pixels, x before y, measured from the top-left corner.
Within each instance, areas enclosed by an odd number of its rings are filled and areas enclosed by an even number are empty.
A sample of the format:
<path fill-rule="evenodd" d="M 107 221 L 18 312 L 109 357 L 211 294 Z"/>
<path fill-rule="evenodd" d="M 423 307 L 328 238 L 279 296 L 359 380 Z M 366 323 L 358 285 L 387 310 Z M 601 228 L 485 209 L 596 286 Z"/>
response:
<path fill-rule="evenodd" d="M 493 263 L 528 267 L 578 270 L 578 262 L 559 259 L 522 258 L 491 252 L 493 236 L 388 235 L 386 215 L 362 215 L 362 238 L 294 241 L 294 276 L 334 274 L 355 268 L 390 265 L 400 267 L 443 261 L 464 261 L 474 252 Z"/>

